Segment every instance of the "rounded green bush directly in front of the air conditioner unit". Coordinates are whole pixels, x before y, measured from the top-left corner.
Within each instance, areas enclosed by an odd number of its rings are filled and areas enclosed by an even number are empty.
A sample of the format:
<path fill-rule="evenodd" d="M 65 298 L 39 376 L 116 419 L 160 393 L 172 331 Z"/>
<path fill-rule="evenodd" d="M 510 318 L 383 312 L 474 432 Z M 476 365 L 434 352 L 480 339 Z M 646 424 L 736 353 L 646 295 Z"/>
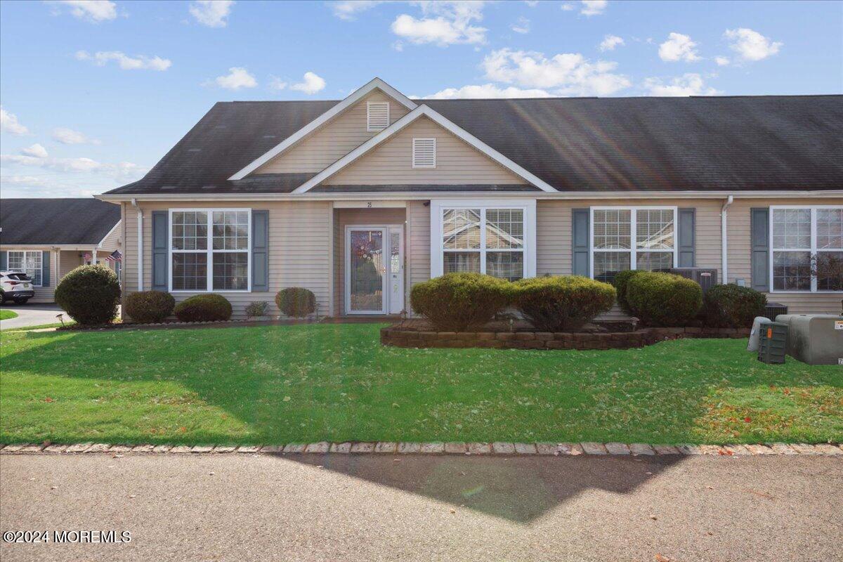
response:
<path fill-rule="evenodd" d="M 702 306 L 702 287 L 671 273 L 640 271 L 626 282 L 626 301 L 646 326 L 685 326 Z"/>

